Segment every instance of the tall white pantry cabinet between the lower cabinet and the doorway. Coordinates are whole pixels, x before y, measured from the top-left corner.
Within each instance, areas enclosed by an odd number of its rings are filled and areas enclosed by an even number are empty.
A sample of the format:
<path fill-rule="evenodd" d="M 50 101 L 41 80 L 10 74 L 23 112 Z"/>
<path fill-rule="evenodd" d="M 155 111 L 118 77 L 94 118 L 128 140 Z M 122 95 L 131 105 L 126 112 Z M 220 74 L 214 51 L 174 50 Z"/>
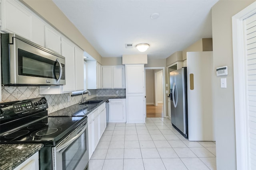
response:
<path fill-rule="evenodd" d="M 144 64 L 126 64 L 127 123 L 145 123 Z"/>

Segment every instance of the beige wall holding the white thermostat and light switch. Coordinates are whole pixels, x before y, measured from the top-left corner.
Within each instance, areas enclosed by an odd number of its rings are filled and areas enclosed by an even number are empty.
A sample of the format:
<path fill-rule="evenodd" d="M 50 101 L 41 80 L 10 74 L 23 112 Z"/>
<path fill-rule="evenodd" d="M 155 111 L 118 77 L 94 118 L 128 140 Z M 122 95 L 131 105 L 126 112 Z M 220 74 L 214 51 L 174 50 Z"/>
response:
<path fill-rule="evenodd" d="M 227 88 L 213 75 L 213 113 L 218 170 L 236 170 L 234 79 L 231 17 L 254 1 L 220 0 L 212 8 L 213 67 L 228 66 Z"/>

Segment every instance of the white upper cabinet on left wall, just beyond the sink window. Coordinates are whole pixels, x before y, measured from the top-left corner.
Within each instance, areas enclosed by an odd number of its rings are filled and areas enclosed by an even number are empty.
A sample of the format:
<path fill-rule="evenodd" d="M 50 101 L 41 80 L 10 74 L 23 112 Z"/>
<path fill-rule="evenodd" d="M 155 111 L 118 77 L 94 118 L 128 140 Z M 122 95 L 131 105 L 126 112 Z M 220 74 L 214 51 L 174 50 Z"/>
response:
<path fill-rule="evenodd" d="M 86 62 L 87 89 L 102 88 L 102 66 L 96 61 Z"/>

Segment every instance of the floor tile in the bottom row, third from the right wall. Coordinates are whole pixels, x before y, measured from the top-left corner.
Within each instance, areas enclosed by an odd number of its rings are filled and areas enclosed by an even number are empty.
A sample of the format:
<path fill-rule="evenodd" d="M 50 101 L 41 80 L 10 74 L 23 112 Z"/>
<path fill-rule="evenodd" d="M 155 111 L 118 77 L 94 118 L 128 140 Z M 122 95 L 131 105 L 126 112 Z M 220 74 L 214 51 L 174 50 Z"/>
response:
<path fill-rule="evenodd" d="M 180 158 L 162 158 L 166 170 L 188 170 Z"/>

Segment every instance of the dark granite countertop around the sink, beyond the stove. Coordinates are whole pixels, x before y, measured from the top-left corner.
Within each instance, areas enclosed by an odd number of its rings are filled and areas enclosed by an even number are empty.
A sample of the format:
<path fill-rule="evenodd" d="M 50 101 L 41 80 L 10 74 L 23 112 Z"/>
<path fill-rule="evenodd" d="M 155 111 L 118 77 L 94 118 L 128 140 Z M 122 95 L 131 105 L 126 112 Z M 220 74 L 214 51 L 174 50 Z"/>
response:
<path fill-rule="evenodd" d="M 98 104 L 74 104 L 72 106 L 66 107 L 64 109 L 60 109 L 58 111 L 54 111 L 49 116 L 86 116 L 91 113 L 94 109 L 96 109 L 98 106 L 106 102 L 108 99 L 120 99 L 120 98 L 126 98 L 126 96 L 98 96 L 91 98 L 86 101 L 90 100 L 102 100 L 102 102 Z"/>

